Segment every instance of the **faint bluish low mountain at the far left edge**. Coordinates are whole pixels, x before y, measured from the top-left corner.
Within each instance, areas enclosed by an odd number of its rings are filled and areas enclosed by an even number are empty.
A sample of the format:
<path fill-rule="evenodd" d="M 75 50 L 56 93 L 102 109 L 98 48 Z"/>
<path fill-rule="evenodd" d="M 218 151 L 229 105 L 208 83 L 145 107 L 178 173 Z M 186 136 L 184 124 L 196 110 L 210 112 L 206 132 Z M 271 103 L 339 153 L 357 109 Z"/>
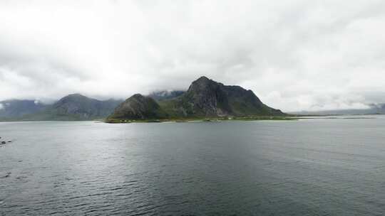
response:
<path fill-rule="evenodd" d="M 31 99 L 9 99 L 0 102 L 0 119 L 14 119 L 46 109 L 47 105 Z"/>

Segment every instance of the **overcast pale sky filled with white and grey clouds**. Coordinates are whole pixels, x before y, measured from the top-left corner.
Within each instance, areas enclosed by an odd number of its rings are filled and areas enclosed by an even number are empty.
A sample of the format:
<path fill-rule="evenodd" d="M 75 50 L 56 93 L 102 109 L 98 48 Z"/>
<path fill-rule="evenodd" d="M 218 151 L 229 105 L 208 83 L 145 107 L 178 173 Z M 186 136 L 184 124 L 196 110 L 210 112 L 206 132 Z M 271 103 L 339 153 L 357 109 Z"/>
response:
<path fill-rule="evenodd" d="M 0 100 L 127 98 L 205 75 L 284 112 L 385 102 L 385 1 L 0 0 Z"/>

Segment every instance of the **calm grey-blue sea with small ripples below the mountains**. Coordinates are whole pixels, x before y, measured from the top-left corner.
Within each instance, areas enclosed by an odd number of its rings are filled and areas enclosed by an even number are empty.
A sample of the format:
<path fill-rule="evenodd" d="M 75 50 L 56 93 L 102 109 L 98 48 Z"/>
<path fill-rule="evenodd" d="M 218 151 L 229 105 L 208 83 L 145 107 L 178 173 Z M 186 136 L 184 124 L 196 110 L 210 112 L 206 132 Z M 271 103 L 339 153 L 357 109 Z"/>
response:
<path fill-rule="evenodd" d="M 0 215 L 385 215 L 385 119 L 3 122 Z"/>

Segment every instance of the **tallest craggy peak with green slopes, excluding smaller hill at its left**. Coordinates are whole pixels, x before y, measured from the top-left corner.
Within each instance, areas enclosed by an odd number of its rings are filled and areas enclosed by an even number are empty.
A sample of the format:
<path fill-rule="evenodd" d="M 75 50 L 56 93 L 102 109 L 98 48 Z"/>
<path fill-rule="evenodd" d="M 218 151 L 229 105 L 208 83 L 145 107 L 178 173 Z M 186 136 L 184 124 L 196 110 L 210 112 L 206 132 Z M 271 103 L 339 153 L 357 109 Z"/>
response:
<path fill-rule="evenodd" d="M 280 110 L 263 104 L 251 90 L 223 85 L 207 77 L 200 77 L 185 94 L 160 105 L 177 117 L 283 115 Z"/>

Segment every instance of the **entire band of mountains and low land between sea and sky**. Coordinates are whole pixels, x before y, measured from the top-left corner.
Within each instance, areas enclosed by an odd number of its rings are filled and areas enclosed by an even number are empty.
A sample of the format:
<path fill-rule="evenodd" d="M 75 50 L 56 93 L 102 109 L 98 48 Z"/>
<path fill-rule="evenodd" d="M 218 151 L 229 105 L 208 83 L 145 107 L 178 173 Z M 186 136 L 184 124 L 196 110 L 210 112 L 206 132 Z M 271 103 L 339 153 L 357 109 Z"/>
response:
<path fill-rule="evenodd" d="M 340 109 L 290 114 L 385 114 L 385 104 L 369 109 Z M 39 100 L 8 99 L 0 102 L 0 121 L 53 121 L 94 119 L 183 119 L 197 117 L 245 117 L 284 115 L 263 104 L 251 91 L 223 85 L 207 77 L 191 83 L 187 91 L 163 90 L 143 96 L 98 100 L 80 94 L 67 95 L 53 104 Z"/>

